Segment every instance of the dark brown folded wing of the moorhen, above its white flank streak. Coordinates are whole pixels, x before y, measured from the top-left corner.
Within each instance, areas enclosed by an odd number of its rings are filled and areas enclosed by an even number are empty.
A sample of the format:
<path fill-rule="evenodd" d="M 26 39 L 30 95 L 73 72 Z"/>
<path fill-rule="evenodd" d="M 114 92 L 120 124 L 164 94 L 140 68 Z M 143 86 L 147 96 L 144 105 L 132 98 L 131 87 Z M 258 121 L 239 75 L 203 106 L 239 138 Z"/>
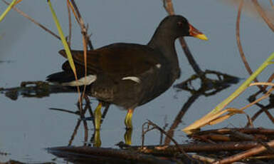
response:
<path fill-rule="evenodd" d="M 65 51 L 59 53 L 65 56 Z M 85 66 L 83 51 L 71 51 L 73 60 Z M 110 76 L 139 75 L 159 66 L 158 52 L 139 44 L 115 43 L 87 52 L 88 70 Z"/>

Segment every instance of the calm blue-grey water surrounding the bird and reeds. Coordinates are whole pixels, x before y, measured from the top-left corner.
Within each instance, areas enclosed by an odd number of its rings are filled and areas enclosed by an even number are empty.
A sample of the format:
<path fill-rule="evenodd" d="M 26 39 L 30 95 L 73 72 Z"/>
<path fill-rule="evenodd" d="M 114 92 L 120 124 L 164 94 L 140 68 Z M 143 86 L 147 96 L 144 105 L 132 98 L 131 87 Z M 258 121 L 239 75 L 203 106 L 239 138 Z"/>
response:
<path fill-rule="evenodd" d="M 65 1 L 52 1 L 63 30 L 68 34 L 68 14 Z M 92 34 L 93 46 L 99 48 L 110 43 L 142 43 L 149 41 L 159 22 L 167 15 L 162 7 L 162 1 L 127 1 L 127 0 L 93 0 L 77 1 L 78 8 L 89 24 Z M 56 31 L 51 12 L 46 1 L 22 1 L 19 9 L 25 11 L 33 19 Z M 233 76 L 246 79 L 248 73 L 241 62 L 236 45 L 236 16 L 237 8 L 226 6 L 217 1 L 174 1 L 176 14 L 181 14 L 189 19 L 197 29 L 209 37 L 209 41 L 186 38 L 194 58 L 202 69 L 221 71 Z M 1 13 L 6 9 L 0 3 Z M 11 61 L 0 63 L 0 87 L 9 88 L 19 86 L 21 81 L 44 81 L 49 74 L 60 71 L 60 66 L 65 59 L 58 55 L 63 48 L 62 43 L 20 16 L 11 11 L 0 24 L 0 60 Z M 273 32 L 260 19 L 255 19 L 246 14 L 242 15 L 241 39 L 251 68 L 255 70 L 273 52 Z M 82 48 L 80 29 L 73 20 L 72 48 Z M 189 78 L 194 73 L 186 61 L 184 52 L 176 41 L 176 50 L 181 67 L 179 83 Z M 260 81 L 266 81 L 273 66 L 269 66 L 260 76 Z M 241 81 L 240 83 L 242 83 Z M 201 96 L 184 116 L 182 123 L 176 129 L 175 139 L 182 141 L 185 134 L 181 128 L 193 123 L 209 113 L 219 102 L 229 96 L 240 85 L 218 93 L 216 96 Z M 256 91 L 249 88 L 241 97 L 237 98 L 230 107 L 241 108 L 248 101 L 248 95 Z M 167 117 L 169 125 L 180 111 L 183 103 L 189 98 L 186 91 L 176 92 L 170 88 L 154 101 L 135 110 L 133 116 L 134 132 L 132 145 L 141 143 L 142 124 L 147 120 L 158 125 L 164 125 Z M 11 101 L 0 95 L 0 152 L 11 153 L 0 155 L 0 162 L 9 159 L 23 162 L 46 162 L 54 158 L 43 148 L 51 146 L 68 145 L 70 135 L 73 133 L 78 117 L 68 113 L 50 111 L 48 108 L 65 108 L 75 111 L 77 93 L 53 94 L 46 98 L 19 98 Z M 97 102 L 93 102 L 95 108 Z M 247 113 L 252 116 L 258 108 L 249 108 Z M 123 140 L 125 133 L 126 111 L 111 106 L 107 118 L 102 124 L 102 147 L 115 147 L 115 143 Z M 206 126 L 208 128 L 243 127 L 246 125 L 245 115 L 236 115 L 221 124 Z M 255 121 L 255 126 L 270 128 L 272 123 L 266 116 L 261 116 Z M 89 127 L 93 127 L 91 124 Z M 89 136 L 93 133 L 90 129 Z M 73 145 L 83 145 L 83 125 L 75 137 Z M 159 133 L 148 133 L 146 144 L 159 143 Z"/>

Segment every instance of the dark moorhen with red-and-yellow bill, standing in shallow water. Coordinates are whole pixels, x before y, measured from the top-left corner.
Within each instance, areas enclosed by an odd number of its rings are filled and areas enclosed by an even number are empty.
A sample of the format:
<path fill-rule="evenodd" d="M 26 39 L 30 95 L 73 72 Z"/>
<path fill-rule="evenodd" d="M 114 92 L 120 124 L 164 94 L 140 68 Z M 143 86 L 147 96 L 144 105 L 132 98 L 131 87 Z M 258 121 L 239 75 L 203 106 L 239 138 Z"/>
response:
<path fill-rule="evenodd" d="M 112 43 L 87 51 L 87 76 L 84 52 L 71 50 L 78 80 L 68 61 L 63 63 L 63 71 L 49 75 L 46 80 L 61 86 L 87 86 L 88 96 L 125 108 L 125 126 L 132 129 L 135 108 L 160 96 L 179 78 L 174 42 L 184 36 L 208 40 L 184 16 L 166 16 L 146 45 Z M 67 58 L 64 50 L 59 53 Z"/>

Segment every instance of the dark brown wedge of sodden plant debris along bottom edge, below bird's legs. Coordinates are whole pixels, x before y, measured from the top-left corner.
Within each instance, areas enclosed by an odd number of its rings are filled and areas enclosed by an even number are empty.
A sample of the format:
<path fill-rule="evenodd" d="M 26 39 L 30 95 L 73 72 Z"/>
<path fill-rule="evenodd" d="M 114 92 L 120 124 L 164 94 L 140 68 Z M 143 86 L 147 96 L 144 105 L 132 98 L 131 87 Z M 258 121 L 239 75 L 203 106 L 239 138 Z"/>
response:
<path fill-rule="evenodd" d="M 88 146 L 67 146 L 48 148 L 48 152 L 73 163 L 174 163 L 169 158 L 144 155 L 137 151 L 113 148 L 93 148 Z"/>

